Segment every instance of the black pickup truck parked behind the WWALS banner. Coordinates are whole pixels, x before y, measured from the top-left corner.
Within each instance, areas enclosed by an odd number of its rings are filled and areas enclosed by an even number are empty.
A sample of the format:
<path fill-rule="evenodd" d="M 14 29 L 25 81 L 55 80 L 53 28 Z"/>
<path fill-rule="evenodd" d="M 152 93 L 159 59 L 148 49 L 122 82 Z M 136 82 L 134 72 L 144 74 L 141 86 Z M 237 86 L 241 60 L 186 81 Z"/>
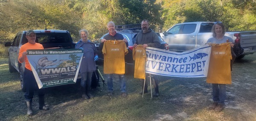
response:
<path fill-rule="evenodd" d="M 66 30 L 34 30 L 36 33 L 36 42 L 41 43 L 44 49 L 74 49 L 76 43 L 73 42 L 70 33 Z M 18 32 L 13 42 L 5 43 L 5 46 L 10 46 L 8 49 L 9 55 L 9 72 L 20 72 L 20 86 L 23 88 L 23 72 L 25 62 L 19 63 L 18 54 L 20 46 L 27 43 L 26 31 Z"/>

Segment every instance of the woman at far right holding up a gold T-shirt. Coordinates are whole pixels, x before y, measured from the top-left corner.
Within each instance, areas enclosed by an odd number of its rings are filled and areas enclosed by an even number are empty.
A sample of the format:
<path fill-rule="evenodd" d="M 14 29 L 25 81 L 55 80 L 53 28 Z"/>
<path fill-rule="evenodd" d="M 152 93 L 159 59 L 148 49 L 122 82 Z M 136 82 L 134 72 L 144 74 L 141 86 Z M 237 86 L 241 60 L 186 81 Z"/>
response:
<path fill-rule="evenodd" d="M 233 39 L 224 36 L 225 27 L 222 22 L 215 22 L 212 26 L 212 38 L 207 43 L 212 46 L 212 53 L 207 75 L 207 83 L 212 84 L 213 104 L 209 109 L 221 112 L 224 109 L 226 99 L 226 84 L 231 84 L 230 59 L 232 55 L 230 47 L 233 48 Z M 231 43 L 229 43 L 231 42 Z M 213 43 L 213 44 L 212 44 Z M 215 54 L 213 54 L 215 51 Z M 218 51 L 224 54 L 218 54 Z M 213 59 L 217 59 L 216 61 Z M 213 60 L 213 61 L 212 61 Z"/>

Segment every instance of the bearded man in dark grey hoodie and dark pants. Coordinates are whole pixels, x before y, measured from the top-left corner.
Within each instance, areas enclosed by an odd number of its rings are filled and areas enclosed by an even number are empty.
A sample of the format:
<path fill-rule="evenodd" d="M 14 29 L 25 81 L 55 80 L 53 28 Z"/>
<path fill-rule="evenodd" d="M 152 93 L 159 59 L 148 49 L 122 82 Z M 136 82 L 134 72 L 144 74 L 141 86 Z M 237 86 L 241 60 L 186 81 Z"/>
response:
<path fill-rule="evenodd" d="M 136 36 L 136 42 L 134 43 L 134 48 L 137 45 L 143 45 L 143 48 L 147 48 L 147 47 L 154 47 L 154 48 L 158 48 L 161 46 L 160 40 L 158 38 L 157 33 L 155 33 L 152 29 L 149 28 L 149 23 L 148 20 L 143 20 L 141 22 L 141 31 L 140 33 L 138 33 L 138 35 Z M 153 85 L 155 88 L 155 92 L 154 92 L 154 97 L 158 97 L 159 95 L 159 89 L 158 89 L 158 80 L 156 75 L 151 75 L 152 80 L 153 80 Z M 142 91 L 140 92 L 140 94 L 143 94 L 143 87 L 144 87 L 144 79 L 140 79 L 141 81 L 141 86 L 142 86 Z M 145 80 L 145 90 L 144 93 L 148 92 L 148 78 L 146 75 L 146 80 Z"/>

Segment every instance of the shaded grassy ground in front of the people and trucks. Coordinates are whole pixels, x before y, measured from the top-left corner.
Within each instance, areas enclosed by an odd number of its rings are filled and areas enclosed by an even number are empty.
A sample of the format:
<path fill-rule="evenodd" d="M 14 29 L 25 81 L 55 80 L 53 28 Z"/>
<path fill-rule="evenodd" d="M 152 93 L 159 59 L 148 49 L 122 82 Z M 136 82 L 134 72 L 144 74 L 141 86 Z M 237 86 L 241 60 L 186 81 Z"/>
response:
<path fill-rule="evenodd" d="M 100 70 L 102 66 L 99 66 Z M 211 84 L 206 78 L 160 76 L 160 96 L 139 95 L 140 82 L 125 75 L 128 97 L 122 98 L 118 77 L 114 77 L 114 96 L 107 87 L 93 91 L 95 98 L 81 99 L 78 84 L 47 89 L 48 111 L 38 109 L 26 115 L 26 104 L 20 89 L 18 73 L 9 73 L 7 59 L 0 59 L 0 120 L 3 121 L 256 121 L 256 54 L 237 60 L 233 67 L 233 84 L 227 85 L 227 100 L 222 112 L 208 110 L 212 104 Z M 103 74 L 103 73 L 102 73 Z M 106 75 L 104 75 L 107 80 Z M 100 80 L 101 81 L 101 80 Z M 150 88 L 150 86 L 148 87 Z M 154 89 L 153 89 L 154 92 Z"/>

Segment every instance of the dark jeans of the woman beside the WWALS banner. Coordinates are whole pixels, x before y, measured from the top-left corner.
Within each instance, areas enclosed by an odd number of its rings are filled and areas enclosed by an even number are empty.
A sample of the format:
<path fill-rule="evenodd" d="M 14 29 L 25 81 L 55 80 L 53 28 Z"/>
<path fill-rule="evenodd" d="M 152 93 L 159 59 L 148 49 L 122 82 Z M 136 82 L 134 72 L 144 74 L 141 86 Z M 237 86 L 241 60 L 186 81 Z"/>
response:
<path fill-rule="evenodd" d="M 93 75 L 93 72 L 81 73 L 81 86 L 87 90 L 90 89 L 92 75 Z"/>

